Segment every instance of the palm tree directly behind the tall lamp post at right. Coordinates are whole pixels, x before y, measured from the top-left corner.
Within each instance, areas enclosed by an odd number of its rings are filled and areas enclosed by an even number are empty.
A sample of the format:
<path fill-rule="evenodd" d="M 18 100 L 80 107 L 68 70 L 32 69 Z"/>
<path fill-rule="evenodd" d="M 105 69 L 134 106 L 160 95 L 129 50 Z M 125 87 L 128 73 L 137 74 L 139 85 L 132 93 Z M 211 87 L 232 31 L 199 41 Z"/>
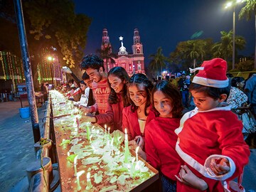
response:
<path fill-rule="evenodd" d="M 220 31 L 220 41 L 213 45 L 213 56 L 223 58 L 225 60 L 232 60 L 233 55 L 233 31 Z M 235 36 L 235 55 L 238 55 L 238 50 L 245 48 L 245 38 L 242 36 Z"/>

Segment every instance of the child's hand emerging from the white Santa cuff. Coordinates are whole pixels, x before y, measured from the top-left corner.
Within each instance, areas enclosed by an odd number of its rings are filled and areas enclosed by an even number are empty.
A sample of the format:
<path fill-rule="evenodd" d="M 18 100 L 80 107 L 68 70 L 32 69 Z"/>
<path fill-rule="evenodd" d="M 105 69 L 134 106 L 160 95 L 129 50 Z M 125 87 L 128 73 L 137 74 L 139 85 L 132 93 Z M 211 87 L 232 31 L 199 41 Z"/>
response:
<path fill-rule="evenodd" d="M 224 175 L 230 171 L 230 163 L 226 158 L 211 159 L 210 169 L 216 176 Z"/>

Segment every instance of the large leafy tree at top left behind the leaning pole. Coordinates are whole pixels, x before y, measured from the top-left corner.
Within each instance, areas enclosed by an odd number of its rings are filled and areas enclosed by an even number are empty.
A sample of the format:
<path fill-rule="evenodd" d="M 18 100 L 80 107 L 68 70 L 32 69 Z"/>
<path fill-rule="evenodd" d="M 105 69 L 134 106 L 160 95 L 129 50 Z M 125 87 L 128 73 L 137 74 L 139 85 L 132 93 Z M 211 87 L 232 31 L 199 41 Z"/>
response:
<path fill-rule="evenodd" d="M 42 50 L 58 55 L 60 65 L 69 65 L 70 68 L 73 68 L 73 72 L 78 73 L 80 69 L 75 68 L 75 63 L 80 63 L 82 59 L 91 19 L 82 14 L 75 14 L 75 6 L 70 0 L 24 0 L 22 3 L 35 87 L 38 85 L 38 64 L 46 59 L 42 58 Z M 6 22 L 16 24 L 13 8 L 13 1 L 1 1 L 0 16 Z M 0 23 L 0 26 L 1 28 L 6 27 L 3 23 Z M 15 36 L 17 32 L 14 32 L 9 31 L 11 35 Z M 0 36 L 0 42 L 4 38 L 6 35 Z M 5 49 L 13 52 L 16 46 L 14 43 L 10 44 L 11 46 L 5 46 Z M 18 48 L 20 48 L 19 45 Z M 53 52 L 51 48 L 54 48 L 55 51 Z"/>

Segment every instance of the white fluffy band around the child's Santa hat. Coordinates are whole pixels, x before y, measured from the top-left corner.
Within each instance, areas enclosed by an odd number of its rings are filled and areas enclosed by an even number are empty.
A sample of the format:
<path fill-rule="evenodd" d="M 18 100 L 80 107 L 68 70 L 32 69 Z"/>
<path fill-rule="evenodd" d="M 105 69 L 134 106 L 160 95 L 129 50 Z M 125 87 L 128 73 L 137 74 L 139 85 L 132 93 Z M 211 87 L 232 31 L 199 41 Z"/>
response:
<path fill-rule="evenodd" d="M 204 85 L 207 87 L 217 87 L 217 88 L 228 87 L 228 79 L 227 80 L 211 80 L 211 79 L 195 76 L 192 82 L 199 85 Z"/>

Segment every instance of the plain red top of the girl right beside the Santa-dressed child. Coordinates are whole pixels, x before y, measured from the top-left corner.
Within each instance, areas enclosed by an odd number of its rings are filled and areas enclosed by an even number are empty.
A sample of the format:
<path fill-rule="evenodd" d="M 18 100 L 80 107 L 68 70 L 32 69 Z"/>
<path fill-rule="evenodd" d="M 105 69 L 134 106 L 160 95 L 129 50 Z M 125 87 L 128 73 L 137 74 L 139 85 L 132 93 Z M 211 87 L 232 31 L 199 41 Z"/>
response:
<path fill-rule="evenodd" d="M 182 161 L 175 151 L 179 123 L 180 118 L 156 117 L 145 127 L 146 161 L 174 181 Z"/>

